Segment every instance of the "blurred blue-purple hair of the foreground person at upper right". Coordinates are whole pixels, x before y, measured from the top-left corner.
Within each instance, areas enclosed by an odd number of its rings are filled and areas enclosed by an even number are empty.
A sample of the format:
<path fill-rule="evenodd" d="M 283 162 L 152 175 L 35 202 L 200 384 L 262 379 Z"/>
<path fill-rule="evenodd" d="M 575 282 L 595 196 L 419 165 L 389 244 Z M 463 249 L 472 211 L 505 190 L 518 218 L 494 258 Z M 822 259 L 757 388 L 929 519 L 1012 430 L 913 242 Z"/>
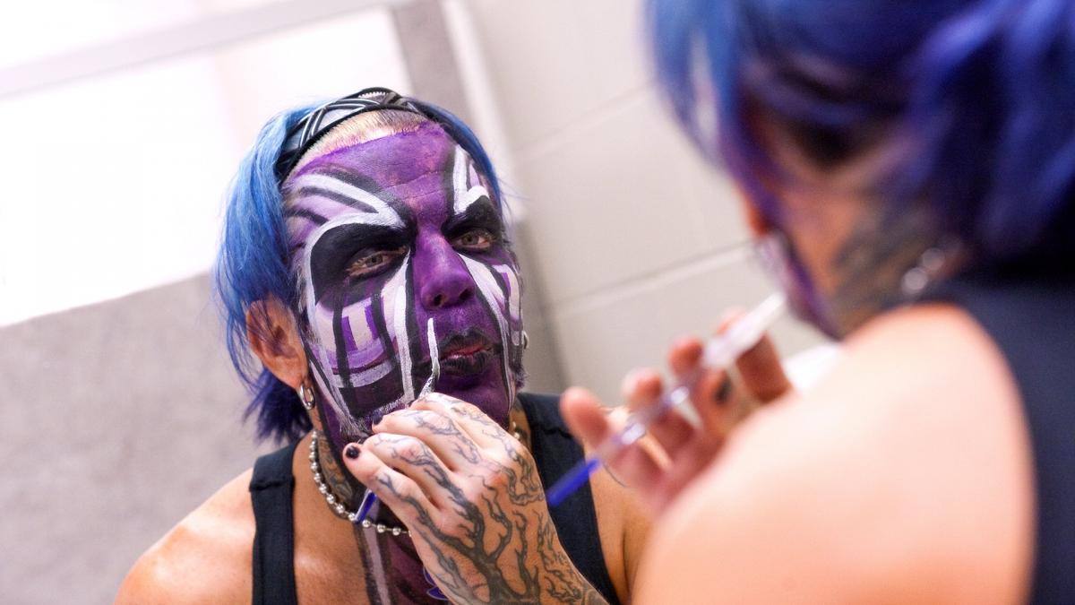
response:
<path fill-rule="evenodd" d="M 646 16 L 678 119 L 774 223 L 789 177 L 759 123 L 822 169 L 906 145 L 870 193 L 889 215 L 924 205 L 978 268 L 1070 265 L 1070 0 L 649 0 Z"/>

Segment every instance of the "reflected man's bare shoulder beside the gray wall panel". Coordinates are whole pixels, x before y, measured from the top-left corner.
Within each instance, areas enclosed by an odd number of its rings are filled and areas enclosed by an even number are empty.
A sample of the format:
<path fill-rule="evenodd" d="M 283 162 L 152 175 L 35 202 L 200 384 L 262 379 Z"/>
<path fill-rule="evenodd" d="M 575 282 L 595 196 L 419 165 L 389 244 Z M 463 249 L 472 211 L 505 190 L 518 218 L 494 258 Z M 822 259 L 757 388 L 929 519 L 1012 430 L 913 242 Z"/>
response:
<path fill-rule="evenodd" d="M 250 473 L 229 481 L 149 547 L 127 574 L 116 603 L 249 602 Z"/>

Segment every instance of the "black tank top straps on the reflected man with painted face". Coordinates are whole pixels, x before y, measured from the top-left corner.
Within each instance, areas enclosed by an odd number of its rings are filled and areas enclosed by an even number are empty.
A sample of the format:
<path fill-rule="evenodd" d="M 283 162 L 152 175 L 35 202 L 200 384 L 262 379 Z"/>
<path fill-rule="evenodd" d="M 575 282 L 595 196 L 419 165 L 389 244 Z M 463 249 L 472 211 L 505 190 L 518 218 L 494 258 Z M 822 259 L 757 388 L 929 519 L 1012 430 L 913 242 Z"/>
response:
<path fill-rule="evenodd" d="M 519 403 L 530 421 L 530 449 L 542 484 L 550 486 L 583 458 L 583 448 L 568 432 L 560 418 L 558 398 L 548 395 L 519 394 Z M 254 464 L 250 500 L 254 504 L 254 605 L 293 605 L 295 519 L 291 494 L 295 476 L 291 459 L 298 442 L 263 455 Z M 608 577 L 598 518 L 589 484 L 560 506 L 549 510 L 564 551 L 578 572 L 608 603 L 618 605 L 616 590 Z"/>

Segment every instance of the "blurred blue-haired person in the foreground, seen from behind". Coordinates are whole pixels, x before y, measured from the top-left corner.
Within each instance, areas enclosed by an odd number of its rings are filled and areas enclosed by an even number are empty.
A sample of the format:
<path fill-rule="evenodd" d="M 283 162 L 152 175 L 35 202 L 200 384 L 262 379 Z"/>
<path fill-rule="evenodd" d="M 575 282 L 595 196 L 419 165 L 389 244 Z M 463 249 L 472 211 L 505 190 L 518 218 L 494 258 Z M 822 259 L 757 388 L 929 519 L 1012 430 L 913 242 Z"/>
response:
<path fill-rule="evenodd" d="M 1075 603 L 1075 2 L 650 0 L 656 68 L 797 314 L 844 342 L 793 392 L 768 341 L 694 390 L 642 603 Z M 698 340 L 672 347 L 674 374 Z M 625 380 L 634 406 L 656 372 Z M 739 392 L 769 402 L 732 430 Z M 576 435 L 612 428 L 564 394 Z"/>

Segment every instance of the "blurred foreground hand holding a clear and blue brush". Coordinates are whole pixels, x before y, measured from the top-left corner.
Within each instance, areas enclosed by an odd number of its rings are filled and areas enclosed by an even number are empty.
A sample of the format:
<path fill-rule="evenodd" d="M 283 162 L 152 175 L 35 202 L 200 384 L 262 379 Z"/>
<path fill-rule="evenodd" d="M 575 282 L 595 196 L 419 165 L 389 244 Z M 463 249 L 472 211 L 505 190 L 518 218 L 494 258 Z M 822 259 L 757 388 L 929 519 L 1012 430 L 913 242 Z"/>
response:
<path fill-rule="evenodd" d="M 731 314 L 717 328 L 722 333 L 742 316 Z M 677 380 L 699 368 L 703 343 L 683 338 L 669 351 L 668 362 Z M 735 362 L 740 384 L 733 385 L 723 370 L 703 370 L 690 394 L 701 420 L 696 426 L 675 411 L 665 413 L 649 427 L 646 438 L 627 448 L 615 460 L 606 460 L 610 470 L 636 489 L 656 513 L 675 500 L 720 451 L 730 431 L 752 409 L 791 390 L 779 355 L 769 337 Z M 640 369 L 624 379 L 624 397 L 634 411 L 657 403 L 665 385 L 654 369 Z M 569 389 L 560 409 L 571 431 L 589 448 L 597 449 L 622 424 L 622 414 L 610 414 L 598 398 L 584 389 Z"/>

